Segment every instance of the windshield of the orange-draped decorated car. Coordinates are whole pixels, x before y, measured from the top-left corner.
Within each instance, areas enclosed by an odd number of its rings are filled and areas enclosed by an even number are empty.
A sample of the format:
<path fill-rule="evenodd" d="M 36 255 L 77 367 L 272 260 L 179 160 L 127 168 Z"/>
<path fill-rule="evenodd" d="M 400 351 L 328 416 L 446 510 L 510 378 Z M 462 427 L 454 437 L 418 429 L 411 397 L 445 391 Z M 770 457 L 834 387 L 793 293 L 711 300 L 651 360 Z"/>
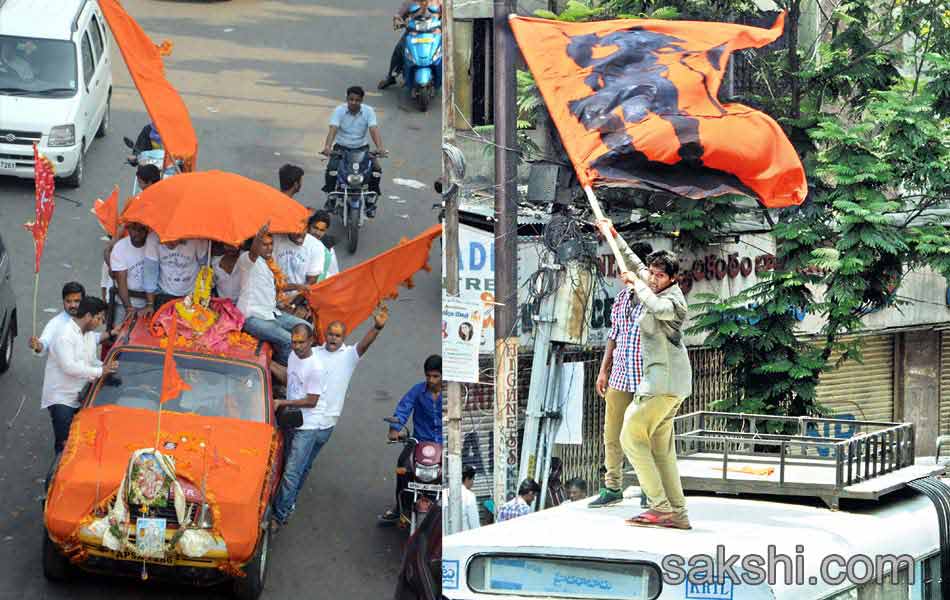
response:
<path fill-rule="evenodd" d="M 164 353 L 123 350 L 119 370 L 103 379 L 92 406 L 125 406 L 158 410 Z M 191 386 L 162 405 L 163 411 L 230 417 L 263 423 L 266 397 L 261 370 L 224 359 L 175 356 L 178 375 Z"/>

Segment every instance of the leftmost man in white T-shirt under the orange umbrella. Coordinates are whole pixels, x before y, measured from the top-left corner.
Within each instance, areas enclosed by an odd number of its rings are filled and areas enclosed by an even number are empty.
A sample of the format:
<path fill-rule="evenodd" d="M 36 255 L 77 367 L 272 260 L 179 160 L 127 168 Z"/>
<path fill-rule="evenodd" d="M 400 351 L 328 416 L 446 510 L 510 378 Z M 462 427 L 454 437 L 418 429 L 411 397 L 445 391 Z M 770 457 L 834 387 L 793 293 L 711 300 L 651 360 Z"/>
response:
<path fill-rule="evenodd" d="M 122 323 L 133 310 L 150 316 L 158 291 L 158 246 L 150 242 L 145 225 L 129 223 L 127 229 L 129 235 L 116 242 L 109 254 L 119 300 L 115 323 Z"/>

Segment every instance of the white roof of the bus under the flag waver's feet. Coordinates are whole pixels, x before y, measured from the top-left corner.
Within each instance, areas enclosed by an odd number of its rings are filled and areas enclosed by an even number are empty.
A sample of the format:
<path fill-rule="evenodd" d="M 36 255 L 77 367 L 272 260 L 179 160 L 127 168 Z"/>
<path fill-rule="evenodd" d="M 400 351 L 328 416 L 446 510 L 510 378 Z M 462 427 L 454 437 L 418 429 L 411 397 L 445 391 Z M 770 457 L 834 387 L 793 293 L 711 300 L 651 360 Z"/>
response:
<path fill-rule="evenodd" d="M 688 561 L 698 555 L 760 555 L 768 546 L 795 560 L 804 559 L 804 577 L 819 574 L 821 561 L 838 554 L 845 559 L 863 554 L 910 554 L 915 559 L 939 548 L 936 509 L 921 494 L 886 503 L 868 503 L 857 510 L 831 511 L 825 507 L 745 498 L 691 496 L 687 498 L 690 531 L 638 528 L 623 521 L 639 514 L 639 499 L 591 510 L 587 501 L 569 503 L 524 517 L 446 536 L 443 556 L 460 559 L 461 569 L 472 554 L 512 552 L 536 555 L 589 556 L 649 560 L 659 565 L 664 556 L 677 554 Z M 895 547 L 894 540 L 902 546 Z M 796 546 L 804 547 L 802 552 Z M 738 563 L 737 563 L 738 566 Z M 776 600 L 818 600 L 847 584 L 786 586 L 782 567 Z M 665 597 L 665 596 L 664 596 Z"/>

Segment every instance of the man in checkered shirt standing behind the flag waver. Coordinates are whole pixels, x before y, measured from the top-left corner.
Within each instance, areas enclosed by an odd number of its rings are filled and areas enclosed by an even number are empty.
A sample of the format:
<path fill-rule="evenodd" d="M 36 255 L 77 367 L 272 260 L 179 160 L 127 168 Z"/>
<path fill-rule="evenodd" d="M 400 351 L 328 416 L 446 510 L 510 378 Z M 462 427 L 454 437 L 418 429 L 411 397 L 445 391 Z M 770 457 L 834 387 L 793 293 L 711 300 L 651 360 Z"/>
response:
<path fill-rule="evenodd" d="M 653 248 L 646 243 L 634 244 L 633 251 L 646 257 Z M 640 344 L 638 319 L 643 313 L 643 304 L 630 288 L 624 287 L 614 299 L 610 311 L 610 333 L 604 359 L 597 375 L 597 393 L 604 397 L 604 487 L 592 500 L 589 508 L 600 508 L 623 500 L 620 491 L 623 482 L 623 448 L 620 446 L 620 430 L 627 407 L 633 401 L 643 378 L 643 354 Z"/>

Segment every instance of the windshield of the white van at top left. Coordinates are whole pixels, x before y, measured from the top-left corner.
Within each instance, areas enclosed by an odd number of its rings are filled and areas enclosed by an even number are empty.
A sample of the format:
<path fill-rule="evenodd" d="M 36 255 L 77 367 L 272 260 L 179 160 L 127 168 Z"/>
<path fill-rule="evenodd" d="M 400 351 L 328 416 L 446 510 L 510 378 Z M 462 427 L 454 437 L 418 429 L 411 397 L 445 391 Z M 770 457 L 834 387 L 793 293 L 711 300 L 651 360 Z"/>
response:
<path fill-rule="evenodd" d="M 72 42 L 0 35 L 0 94 L 67 97 L 77 90 Z"/>

